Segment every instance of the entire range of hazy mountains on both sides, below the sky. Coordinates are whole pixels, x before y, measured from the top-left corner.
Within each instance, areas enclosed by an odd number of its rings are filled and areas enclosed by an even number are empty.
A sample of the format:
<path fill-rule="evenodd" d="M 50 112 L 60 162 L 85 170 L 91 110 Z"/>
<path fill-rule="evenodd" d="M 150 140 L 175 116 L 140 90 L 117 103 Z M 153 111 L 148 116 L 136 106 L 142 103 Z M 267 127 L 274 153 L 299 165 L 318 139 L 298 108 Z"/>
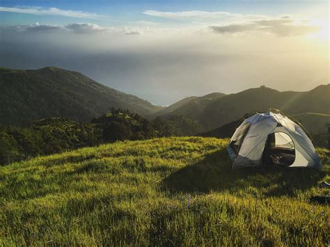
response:
<path fill-rule="evenodd" d="M 303 124 L 313 127 L 314 132 L 329 120 L 330 84 L 308 92 L 279 92 L 261 86 L 230 95 L 211 93 L 187 97 L 161 107 L 103 86 L 79 72 L 57 67 L 40 70 L 0 68 L 1 124 L 20 125 L 53 117 L 89 122 L 109 112 L 111 107 L 128 109 L 149 119 L 183 115 L 200 122 L 205 131 L 237 121 L 246 113 L 274 108 L 294 115 Z"/>

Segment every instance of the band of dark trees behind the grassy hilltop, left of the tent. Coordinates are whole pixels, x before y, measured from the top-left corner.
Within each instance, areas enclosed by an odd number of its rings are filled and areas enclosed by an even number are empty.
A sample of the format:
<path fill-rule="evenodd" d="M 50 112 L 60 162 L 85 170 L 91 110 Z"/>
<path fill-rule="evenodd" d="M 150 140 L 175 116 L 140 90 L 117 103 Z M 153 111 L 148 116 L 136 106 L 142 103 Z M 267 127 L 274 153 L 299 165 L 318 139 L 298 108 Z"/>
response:
<path fill-rule="evenodd" d="M 0 125 L 0 164 L 100 143 L 191 136 L 202 131 L 197 121 L 179 115 L 147 120 L 121 109 L 111 109 L 90 123 L 49 118 L 24 127 Z"/>

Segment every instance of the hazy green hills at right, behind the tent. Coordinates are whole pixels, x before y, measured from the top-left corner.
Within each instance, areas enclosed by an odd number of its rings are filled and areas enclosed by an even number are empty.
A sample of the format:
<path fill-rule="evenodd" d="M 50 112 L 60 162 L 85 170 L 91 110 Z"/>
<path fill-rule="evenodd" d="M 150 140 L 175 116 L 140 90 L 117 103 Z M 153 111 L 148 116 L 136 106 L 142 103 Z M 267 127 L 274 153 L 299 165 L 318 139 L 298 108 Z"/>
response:
<path fill-rule="evenodd" d="M 308 92 L 279 92 L 272 88 L 261 86 L 251 88 L 240 93 L 223 95 L 211 99 L 205 104 L 205 97 L 191 99 L 174 111 L 166 112 L 184 115 L 201 122 L 205 129 L 214 129 L 229 122 L 233 122 L 246 113 L 253 113 L 267 109 L 279 109 L 288 115 L 299 113 L 330 114 L 330 84 L 321 85 Z M 168 106 L 171 107 L 171 106 Z M 155 115 L 159 115 L 161 110 Z"/>

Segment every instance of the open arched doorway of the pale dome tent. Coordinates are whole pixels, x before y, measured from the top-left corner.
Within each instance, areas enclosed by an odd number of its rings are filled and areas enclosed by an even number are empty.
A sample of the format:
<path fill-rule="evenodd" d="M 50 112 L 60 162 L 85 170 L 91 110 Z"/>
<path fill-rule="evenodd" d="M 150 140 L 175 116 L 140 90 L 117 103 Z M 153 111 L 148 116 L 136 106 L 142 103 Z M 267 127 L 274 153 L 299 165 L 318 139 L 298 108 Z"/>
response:
<path fill-rule="evenodd" d="M 262 164 L 288 167 L 294 162 L 295 149 L 292 138 L 284 132 L 269 134 L 262 153 Z"/>

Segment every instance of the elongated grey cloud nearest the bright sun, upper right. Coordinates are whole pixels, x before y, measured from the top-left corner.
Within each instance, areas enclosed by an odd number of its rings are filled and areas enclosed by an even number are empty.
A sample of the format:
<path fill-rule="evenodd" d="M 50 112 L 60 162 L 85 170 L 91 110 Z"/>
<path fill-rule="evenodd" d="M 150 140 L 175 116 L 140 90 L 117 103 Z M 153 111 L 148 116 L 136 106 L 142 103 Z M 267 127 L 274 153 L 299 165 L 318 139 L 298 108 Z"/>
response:
<path fill-rule="evenodd" d="M 242 24 L 226 26 L 210 26 L 214 33 L 246 33 L 250 31 L 263 31 L 278 36 L 296 36 L 319 31 L 318 26 L 295 23 L 290 17 L 281 19 L 262 19 Z"/>

